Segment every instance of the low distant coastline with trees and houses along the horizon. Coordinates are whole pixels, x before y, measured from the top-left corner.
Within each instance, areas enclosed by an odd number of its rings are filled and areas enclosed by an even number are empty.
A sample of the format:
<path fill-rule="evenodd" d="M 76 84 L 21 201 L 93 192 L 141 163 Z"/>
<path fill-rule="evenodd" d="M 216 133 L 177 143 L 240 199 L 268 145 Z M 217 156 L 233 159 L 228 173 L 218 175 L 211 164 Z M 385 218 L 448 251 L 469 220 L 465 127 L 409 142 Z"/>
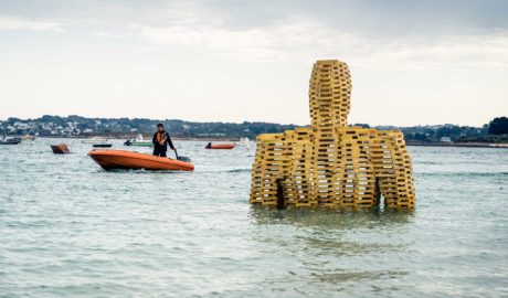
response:
<path fill-rule="evenodd" d="M 180 119 L 146 118 L 88 118 L 77 115 L 44 115 L 34 119 L 10 117 L 0 120 L 0 136 L 35 136 L 55 138 L 109 137 L 133 139 L 138 134 L 151 138 L 155 126 L 165 124 L 174 139 L 232 141 L 240 138 L 254 140 L 260 134 L 279 134 L 295 127 L 294 124 L 244 121 L 244 123 L 197 123 Z M 352 124 L 370 128 L 368 124 Z M 409 146 L 480 147 L 506 148 L 508 145 L 508 118 L 497 117 L 481 127 L 452 124 L 424 126 L 373 126 L 380 130 L 400 129 Z"/>

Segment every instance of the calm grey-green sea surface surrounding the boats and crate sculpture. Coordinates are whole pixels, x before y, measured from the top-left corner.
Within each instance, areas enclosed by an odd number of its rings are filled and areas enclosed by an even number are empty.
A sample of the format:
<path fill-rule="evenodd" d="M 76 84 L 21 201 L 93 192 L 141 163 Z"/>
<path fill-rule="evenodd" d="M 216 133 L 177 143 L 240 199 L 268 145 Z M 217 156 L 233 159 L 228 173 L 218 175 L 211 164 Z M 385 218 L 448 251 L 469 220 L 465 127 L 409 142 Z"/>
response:
<path fill-rule="evenodd" d="M 251 209 L 254 146 L 204 145 L 192 173 L 0 146 L 0 297 L 508 296 L 506 149 L 411 147 L 414 212 L 337 213 Z"/>

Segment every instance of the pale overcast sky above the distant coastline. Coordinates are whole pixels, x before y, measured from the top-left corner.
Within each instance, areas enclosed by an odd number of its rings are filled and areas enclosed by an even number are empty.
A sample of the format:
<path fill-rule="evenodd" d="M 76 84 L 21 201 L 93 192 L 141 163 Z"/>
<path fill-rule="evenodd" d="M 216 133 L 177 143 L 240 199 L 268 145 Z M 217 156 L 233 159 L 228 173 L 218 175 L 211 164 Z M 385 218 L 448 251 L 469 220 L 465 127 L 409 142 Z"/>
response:
<path fill-rule="evenodd" d="M 306 125 L 314 61 L 352 74 L 349 123 L 508 115 L 508 1 L 0 0 L 0 119 Z"/>

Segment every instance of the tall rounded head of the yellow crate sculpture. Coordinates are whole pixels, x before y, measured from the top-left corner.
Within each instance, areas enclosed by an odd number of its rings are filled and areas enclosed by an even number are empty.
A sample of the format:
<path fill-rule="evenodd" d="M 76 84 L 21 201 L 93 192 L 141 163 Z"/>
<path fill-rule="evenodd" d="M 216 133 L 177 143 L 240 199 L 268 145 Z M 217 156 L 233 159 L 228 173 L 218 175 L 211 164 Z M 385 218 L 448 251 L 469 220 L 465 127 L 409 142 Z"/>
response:
<path fill-rule="evenodd" d="M 351 75 L 346 63 L 318 60 L 309 82 L 311 127 L 331 129 L 348 125 L 351 103 Z"/>

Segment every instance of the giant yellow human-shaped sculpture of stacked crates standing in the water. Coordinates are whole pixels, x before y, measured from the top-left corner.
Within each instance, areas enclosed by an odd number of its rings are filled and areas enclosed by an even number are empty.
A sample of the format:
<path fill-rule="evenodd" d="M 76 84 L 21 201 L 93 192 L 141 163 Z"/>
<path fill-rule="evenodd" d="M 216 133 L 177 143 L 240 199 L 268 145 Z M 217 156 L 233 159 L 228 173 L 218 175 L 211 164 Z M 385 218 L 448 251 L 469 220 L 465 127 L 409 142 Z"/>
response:
<path fill-rule="evenodd" d="M 414 209 L 411 157 L 400 130 L 348 127 L 351 76 L 317 61 L 309 82 L 310 128 L 257 137 L 251 203 L 277 207 Z"/>

